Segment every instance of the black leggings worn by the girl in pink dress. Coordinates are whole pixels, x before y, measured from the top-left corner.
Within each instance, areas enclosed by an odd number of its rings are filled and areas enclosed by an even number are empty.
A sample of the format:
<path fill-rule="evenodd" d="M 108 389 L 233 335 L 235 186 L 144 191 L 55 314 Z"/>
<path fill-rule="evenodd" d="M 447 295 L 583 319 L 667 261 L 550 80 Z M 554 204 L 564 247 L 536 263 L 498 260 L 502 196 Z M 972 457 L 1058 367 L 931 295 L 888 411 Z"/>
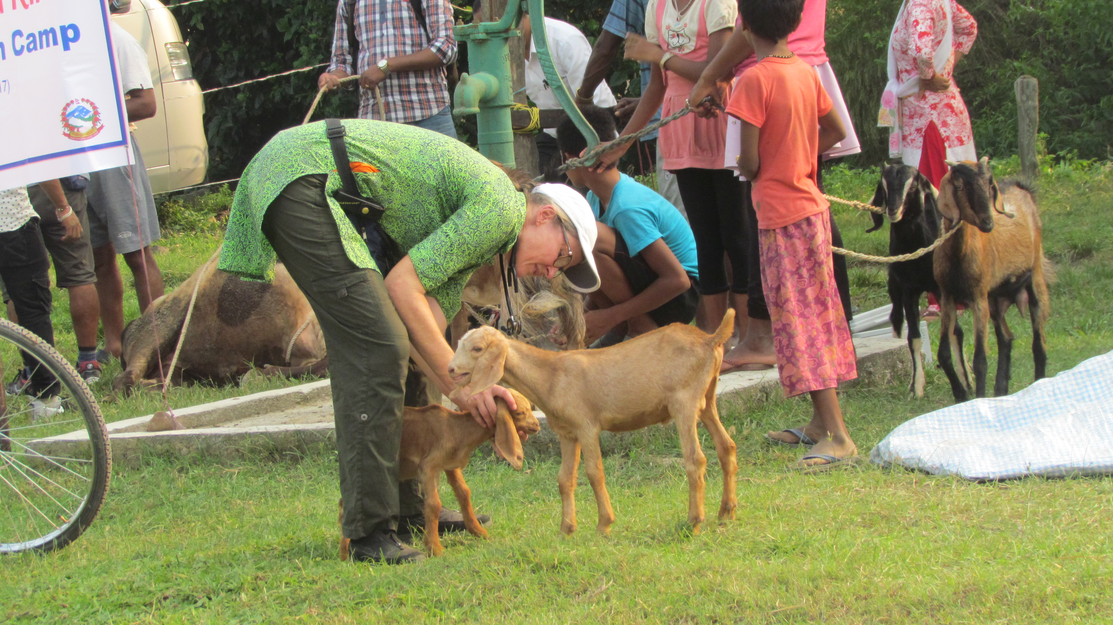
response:
<path fill-rule="evenodd" d="M 696 236 L 700 295 L 718 295 L 727 290 L 746 294 L 749 272 L 746 269 L 741 180 L 729 169 L 688 168 L 674 173 L 688 211 L 688 222 Z M 727 284 L 723 252 L 730 258 L 731 285 Z M 760 290 L 760 285 L 758 288 Z"/>

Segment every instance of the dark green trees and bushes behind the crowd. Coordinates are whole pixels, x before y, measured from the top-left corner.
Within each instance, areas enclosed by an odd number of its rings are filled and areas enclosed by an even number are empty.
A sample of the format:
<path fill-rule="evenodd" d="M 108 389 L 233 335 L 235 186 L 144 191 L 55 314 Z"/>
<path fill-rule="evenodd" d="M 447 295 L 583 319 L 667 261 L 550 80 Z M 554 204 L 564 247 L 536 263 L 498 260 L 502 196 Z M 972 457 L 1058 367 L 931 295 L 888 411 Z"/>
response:
<path fill-rule="evenodd" d="M 459 4 L 460 2 L 457 2 Z M 876 127 L 885 85 L 885 46 L 899 0 L 828 0 L 827 52 L 864 147 L 853 165 L 885 157 Z M 966 0 L 978 39 L 959 65 L 956 82 L 971 109 L 981 153 L 1016 150 L 1013 82 L 1040 80 L 1040 129 L 1053 155 L 1109 158 L 1113 142 L 1113 2 L 1110 0 Z M 333 0 L 207 0 L 175 9 L 204 89 L 325 62 L 332 44 Z M 580 27 L 592 42 L 609 0 L 554 0 L 546 14 Z M 465 71 L 465 54 L 461 56 Z M 206 95 L 209 179 L 235 178 L 283 128 L 301 123 L 324 68 Z M 615 96 L 640 92 L 637 63 L 617 59 Z M 326 97 L 321 112 L 348 117 L 353 91 Z"/>

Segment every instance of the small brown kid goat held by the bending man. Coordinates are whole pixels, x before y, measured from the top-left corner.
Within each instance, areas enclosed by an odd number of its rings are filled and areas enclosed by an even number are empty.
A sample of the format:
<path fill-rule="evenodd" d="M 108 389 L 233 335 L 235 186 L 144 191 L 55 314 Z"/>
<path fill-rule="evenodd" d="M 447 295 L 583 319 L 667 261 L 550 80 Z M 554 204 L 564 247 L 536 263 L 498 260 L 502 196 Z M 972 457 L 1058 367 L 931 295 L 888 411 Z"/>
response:
<path fill-rule="evenodd" d="M 522 443 L 518 433 L 536 434 L 541 424 L 533 416 L 530 400 L 514 393 L 516 410 L 506 407 L 502 399 L 495 399 L 499 414 L 495 417 L 494 436 L 491 430 L 475 423 L 470 413 L 457 413 L 444 406 L 432 405 L 424 408 L 406 408 L 402 421 L 402 449 L 398 453 L 398 479 L 421 479 L 425 495 L 425 547 L 430 555 L 443 552 L 437 535 L 437 519 L 441 515 L 441 497 L 437 482 L 441 472 L 449 478 L 452 492 L 460 503 L 460 514 L 464 525 L 473 536 L 485 537 L 486 529 L 475 518 L 472 509 L 472 492 L 464 483 L 463 468 L 467 466 L 472 452 L 491 440 L 495 452 L 515 469 L 522 468 Z M 344 523 L 344 500 L 341 500 L 341 524 Z M 348 539 L 341 538 L 341 559 L 347 559 Z"/>

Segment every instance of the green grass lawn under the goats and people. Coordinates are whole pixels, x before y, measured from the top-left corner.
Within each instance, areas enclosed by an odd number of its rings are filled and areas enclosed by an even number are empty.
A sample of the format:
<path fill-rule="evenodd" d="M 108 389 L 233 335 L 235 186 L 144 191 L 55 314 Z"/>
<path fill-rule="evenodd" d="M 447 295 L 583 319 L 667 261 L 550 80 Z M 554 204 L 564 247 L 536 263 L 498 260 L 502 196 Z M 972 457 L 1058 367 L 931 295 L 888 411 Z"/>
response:
<path fill-rule="evenodd" d="M 999 169 L 1007 170 L 1009 161 Z M 868 200 L 877 173 L 836 168 L 828 191 Z M 1113 173 L 1074 163 L 1045 172 L 1040 204 L 1052 287 L 1048 373 L 1113 349 Z M 836 208 L 847 247 L 884 254 L 868 216 Z M 159 256 L 185 277 L 216 239 L 169 239 Z M 181 246 L 180 248 L 174 246 Z M 855 304 L 887 302 L 884 270 L 853 265 Z M 180 274 L 179 274 L 180 272 Z M 63 309 L 63 306 L 60 306 Z M 1032 381 L 1031 334 L 1009 314 L 1013 389 Z M 65 314 L 56 323 L 68 327 Z M 962 317 L 968 325 L 968 316 Z M 933 331 L 936 326 L 933 326 Z M 60 337 L 66 345 L 66 328 Z M 992 345 L 992 343 L 991 343 Z M 991 354 L 991 376 L 994 355 Z M 104 384 L 98 395 L 107 391 Z M 171 391 L 176 405 L 238 389 Z M 156 395 L 106 405 L 149 413 Z M 951 404 L 942 373 L 909 399 L 905 381 L 841 393 L 863 453 L 900 423 Z M 673 428 L 607 439 L 618 523 L 595 534 L 581 477 L 580 530 L 558 532 L 559 460 L 528 453 L 522 473 L 481 448 L 466 470 L 491 539 L 444 542 L 444 557 L 401 568 L 336 559 L 335 456 L 217 463 L 150 458 L 117 470 L 101 516 L 58 554 L 0 564 L 0 621 L 14 623 L 1107 623 L 1113 608 L 1113 479 L 978 485 L 871 465 L 788 473 L 800 450 L 761 435 L 810 416 L 807 399 L 723 403 L 738 442 L 740 507 L 691 536 Z M 721 476 L 710 440 L 708 512 Z M 582 472 L 581 472 L 582 476 Z M 442 498 L 452 503 L 449 489 Z"/>

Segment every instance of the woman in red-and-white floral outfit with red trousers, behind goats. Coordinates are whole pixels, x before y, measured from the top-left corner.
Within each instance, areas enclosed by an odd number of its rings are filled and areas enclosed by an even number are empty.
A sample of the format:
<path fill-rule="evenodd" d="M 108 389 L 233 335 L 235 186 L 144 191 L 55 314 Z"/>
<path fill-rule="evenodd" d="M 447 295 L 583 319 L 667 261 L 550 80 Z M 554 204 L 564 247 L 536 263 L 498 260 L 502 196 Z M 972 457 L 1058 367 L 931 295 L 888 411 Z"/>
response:
<path fill-rule="evenodd" d="M 893 128 L 889 156 L 920 167 L 929 179 L 945 173 L 937 171 L 942 152 L 947 160 L 977 160 L 969 113 L 953 78 L 976 38 L 977 22 L 954 0 L 905 0 L 893 26 L 878 126 Z M 920 166 L 924 150 L 928 158 Z M 932 181 L 938 186 L 937 178 Z"/>

